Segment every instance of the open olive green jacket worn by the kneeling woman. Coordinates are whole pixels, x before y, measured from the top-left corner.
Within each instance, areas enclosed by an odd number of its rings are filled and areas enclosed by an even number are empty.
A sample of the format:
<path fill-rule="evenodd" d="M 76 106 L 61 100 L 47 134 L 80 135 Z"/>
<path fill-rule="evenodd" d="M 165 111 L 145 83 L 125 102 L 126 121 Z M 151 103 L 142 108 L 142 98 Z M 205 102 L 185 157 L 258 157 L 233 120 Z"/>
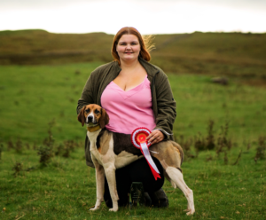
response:
<path fill-rule="evenodd" d="M 148 80 L 151 82 L 151 91 L 153 99 L 153 115 L 156 127 L 154 130 L 163 132 L 165 139 L 173 140 L 172 130 L 176 119 L 176 101 L 168 83 L 168 77 L 159 68 L 145 59 L 138 59 L 140 64 L 147 72 Z M 76 108 L 77 114 L 80 113 L 83 106 L 97 104 L 101 106 L 101 96 L 106 86 L 119 75 L 121 67 L 116 61 L 107 63 L 96 68 L 91 74 L 82 91 L 82 97 L 78 100 Z M 139 125 L 141 127 L 141 124 Z M 85 157 L 87 165 L 94 167 L 90 159 L 90 142 L 86 137 Z"/>

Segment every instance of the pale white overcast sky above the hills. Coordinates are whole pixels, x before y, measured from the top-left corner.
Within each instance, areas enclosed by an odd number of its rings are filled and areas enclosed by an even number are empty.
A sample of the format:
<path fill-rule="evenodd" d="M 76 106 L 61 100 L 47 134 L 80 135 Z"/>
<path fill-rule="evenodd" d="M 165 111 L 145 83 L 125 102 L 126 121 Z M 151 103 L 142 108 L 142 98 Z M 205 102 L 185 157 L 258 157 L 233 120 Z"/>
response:
<path fill-rule="evenodd" d="M 0 31 L 266 33 L 266 0 L 0 0 Z"/>

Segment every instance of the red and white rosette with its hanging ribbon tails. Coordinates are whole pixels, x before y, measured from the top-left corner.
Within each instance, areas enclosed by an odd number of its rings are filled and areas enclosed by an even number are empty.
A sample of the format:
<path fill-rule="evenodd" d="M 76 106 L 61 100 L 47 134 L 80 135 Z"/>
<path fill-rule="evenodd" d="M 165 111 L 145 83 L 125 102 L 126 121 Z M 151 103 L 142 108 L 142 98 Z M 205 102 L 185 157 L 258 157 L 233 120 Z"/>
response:
<path fill-rule="evenodd" d="M 157 180 L 157 178 L 160 178 L 160 171 L 157 169 L 149 151 L 151 143 L 148 143 L 146 140 L 150 133 L 151 131 L 146 128 L 137 128 L 131 134 L 131 142 L 137 147 L 137 149 L 140 149 L 141 153 L 145 156 L 145 159 L 152 170 L 153 177 Z"/>

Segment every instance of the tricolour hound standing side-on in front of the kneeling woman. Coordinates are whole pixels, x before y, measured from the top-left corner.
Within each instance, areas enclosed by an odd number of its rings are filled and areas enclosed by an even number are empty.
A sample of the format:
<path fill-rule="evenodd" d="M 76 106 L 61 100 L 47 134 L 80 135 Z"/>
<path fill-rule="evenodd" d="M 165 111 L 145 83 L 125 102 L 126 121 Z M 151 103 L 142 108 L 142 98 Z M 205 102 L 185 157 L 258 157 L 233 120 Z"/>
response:
<path fill-rule="evenodd" d="M 109 191 L 113 200 L 113 208 L 109 211 L 118 210 L 118 194 L 116 190 L 115 169 L 120 169 L 142 157 L 142 153 L 131 144 L 130 135 L 115 133 L 106 130 L 109 116 L 101 106 L 91 104 L 83 106 L 78 121 L 82 126 L 87 126 L 87 136 L 90 139 L 91 159 L 96 169 L 97 201 L 94 208 L 100 208 L 104 200 L 105 175 L 109 185 Z M 186 215 L 195 212 L 193 192 L 184 183 L 181 164 L 184 159 L 183 149 L 174 141 L 161 141 L 149 147 L 151 155 L 160 161 L 164 169 L 164 176 L 171 185 L 176 186 L 184 193 L 187 199 Z"/>

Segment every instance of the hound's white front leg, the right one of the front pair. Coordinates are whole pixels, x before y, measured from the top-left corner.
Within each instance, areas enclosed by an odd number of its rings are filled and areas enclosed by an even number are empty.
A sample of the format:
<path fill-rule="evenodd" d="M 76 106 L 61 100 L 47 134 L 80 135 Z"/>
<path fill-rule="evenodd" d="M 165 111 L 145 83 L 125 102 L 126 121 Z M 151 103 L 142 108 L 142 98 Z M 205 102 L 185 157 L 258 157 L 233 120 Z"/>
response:
<path fill-rule="evenodd" d="M 113 208 L 110 208 L 109 211 L 113 211 L 116 212 L 118 211 L 118 193 L 117 193 L 117 189 L 116 189 L 116 179 L 115 179 L 115 167 L 113 163 L 109 163 L 107 166 L 105 166 L 105 170 L 106 170 L 106 179 L 107 179 L 107 183 L 109 185 L 109 191 L 110 191 L 110 195 L 113 201 Z"/>

